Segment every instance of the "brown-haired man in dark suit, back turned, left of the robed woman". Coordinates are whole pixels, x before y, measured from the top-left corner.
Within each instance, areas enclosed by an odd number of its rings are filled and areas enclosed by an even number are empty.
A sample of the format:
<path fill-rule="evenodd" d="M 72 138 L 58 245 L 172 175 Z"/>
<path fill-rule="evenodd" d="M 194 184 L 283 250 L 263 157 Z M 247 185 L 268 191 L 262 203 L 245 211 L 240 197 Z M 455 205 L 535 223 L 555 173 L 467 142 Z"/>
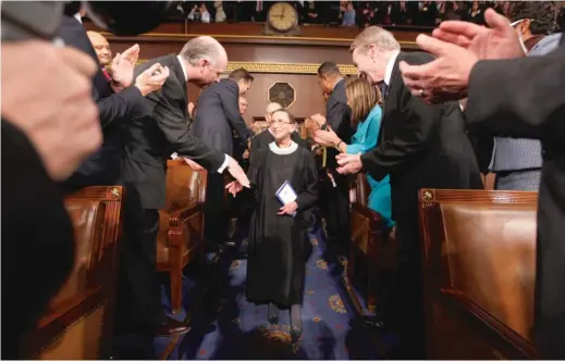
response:
<path fill-rule="evenodd" d="M 239 112 L 239 96 L 251 87 L 254 77 L 245 69 L 237 69 L 228 78 L 207 87 L 198 97 L 198 111 L 191 126 L 192 134 L 216 151 L 232 154 L 233 132 L 243 145 L 251 136 Z M 241 154 L 238 154 L 241 155 Z M 223 175 L 208 174 L 206 187 L 205 237 L 209 247 L 232 245 L 226 242 L 229 206 L 224 199 Z"/>

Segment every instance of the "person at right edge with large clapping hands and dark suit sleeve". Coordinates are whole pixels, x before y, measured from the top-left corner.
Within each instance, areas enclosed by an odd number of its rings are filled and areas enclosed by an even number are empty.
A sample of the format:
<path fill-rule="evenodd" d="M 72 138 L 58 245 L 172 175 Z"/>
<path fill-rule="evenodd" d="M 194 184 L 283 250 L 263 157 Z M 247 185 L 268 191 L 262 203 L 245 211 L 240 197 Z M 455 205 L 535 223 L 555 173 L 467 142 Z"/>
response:
<path fill-rule="evenodd" d="M 492 9 L 484 12 L 484 18 L 489 27 L 446 22 L 434 32 L 439 39 L 419 36 L 418 45 L 435 54 L 437 61 L 426 66 L 403 63 L 403 77 L 414 94 L 429 102 L 468 95 L 466 120 L 472 128 L 541 140 L 535 332 L 541 357 L 563 359 L 565 37 L 549 54 L 521 58 L 518 36 L 508 21 Z M 470 47 L 450 43 L 454 39 Z M 496 84 L 493 91 L 492 84 Z"/>

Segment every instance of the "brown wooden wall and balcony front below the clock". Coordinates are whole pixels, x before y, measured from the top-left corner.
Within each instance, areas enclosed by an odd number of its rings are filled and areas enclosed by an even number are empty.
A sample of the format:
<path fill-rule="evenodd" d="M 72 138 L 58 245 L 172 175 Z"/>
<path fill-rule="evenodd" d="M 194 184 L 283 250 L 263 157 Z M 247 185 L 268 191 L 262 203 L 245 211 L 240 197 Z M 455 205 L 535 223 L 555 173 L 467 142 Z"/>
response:
<path fill-rule="evenodd" d="M 96 27 L 85 22 L 88 29 Z M 395 37 L 404 50 L 415 49 L 415 38 L 429 29 L 395 28 Z M 356 27 L 330 27 L 304 25 L 298 37 L 263 36 L 262 24 L 197 24 L 170 21 L 153 32 L 137 37 L 116 37 L 105 34 L 112 51 L 122 52 L 139 43 L 139 59 L 148 60 L 169 53 L 177 53 L 194 36 L 211 35 L 224 46 L 230 60 L 229 69 L 244 66 L 255 76 L 255 84 L 247 94 L 249 107 L 245 114 L 250 122 L 254 116 L 265 115 L 268 103 L 267 90 L 275 82 L 288 82 L 296 89 L 296 102 L 291 111 L 297 117 L 324 112 L 324 102 L 318 85 L 316 70 L 324 61 L 343 65 L 346 74 L 356 72 L 348 47 L 359 33 Z M 189 101 L 195 102 L 201 90 L 188 85 Z"/>

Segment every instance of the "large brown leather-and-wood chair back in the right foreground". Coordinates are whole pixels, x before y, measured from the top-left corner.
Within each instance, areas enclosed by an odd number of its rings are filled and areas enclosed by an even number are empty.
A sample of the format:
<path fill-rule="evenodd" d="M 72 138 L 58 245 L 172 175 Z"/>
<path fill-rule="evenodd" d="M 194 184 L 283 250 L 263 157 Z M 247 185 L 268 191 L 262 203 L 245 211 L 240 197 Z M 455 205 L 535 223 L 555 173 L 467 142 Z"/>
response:
<path fill-rule="evenodd" d="M 536 358 L 537 192 L 421 189 L 427 357 Z"/>

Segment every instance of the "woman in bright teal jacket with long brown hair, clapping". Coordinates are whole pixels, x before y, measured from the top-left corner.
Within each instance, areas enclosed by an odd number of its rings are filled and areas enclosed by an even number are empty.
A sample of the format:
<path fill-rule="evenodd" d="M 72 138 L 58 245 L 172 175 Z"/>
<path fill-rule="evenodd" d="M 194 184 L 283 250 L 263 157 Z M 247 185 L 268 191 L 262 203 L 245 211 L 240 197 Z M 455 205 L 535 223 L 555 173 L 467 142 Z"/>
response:
<path fill-rule="evenodd" d="M 314 140 L 322 146 L 335 147 L 341 152 L 363 154 L 377 147 L 382 117 L 381 95 L 377 87 L 359 77 L 347 79 L 345 94 L 347 104 L 352 109 L 352 125 L 354 128 L 357 126 L 352 142 L 345 144 L 331 128 L 317 130 Z M 367 180 L 371 187 L 369 208 L 378 212 L 386 221 L 389 227 L 392 227 L 394 221 L 392 220 L 389 176 L 378 182 L 367 175 Z"/>

